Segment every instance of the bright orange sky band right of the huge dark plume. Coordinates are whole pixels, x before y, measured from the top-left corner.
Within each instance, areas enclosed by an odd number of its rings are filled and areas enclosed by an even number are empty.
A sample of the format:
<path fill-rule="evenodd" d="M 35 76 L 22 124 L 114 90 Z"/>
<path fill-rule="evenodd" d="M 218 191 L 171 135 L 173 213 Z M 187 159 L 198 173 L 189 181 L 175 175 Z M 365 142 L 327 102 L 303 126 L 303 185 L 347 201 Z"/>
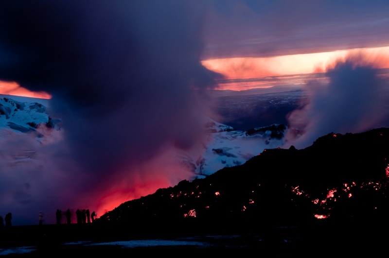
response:
<path fill-rule="evenodd" d="M 325 72 L 336 60 L 344 60 L 351 54 L 362 54 L 374 68 L 389 68 L 389 47 L 351 49 L 333 52 L 293 54 L 273 57 L 234 57 L 203 60 L 201 64 L 212 71 L 223 74 L 226 79 L 248 79 L 266 76 L 282 76 Z M 246 88 L 269 87 L 251 82 Z M 264 83 L 262 83 L 264 84 Z M 293 84 L 293 83 L 291 83 Z M 220 86 L 219 89 L 240 90 L 239 85 Z"/>

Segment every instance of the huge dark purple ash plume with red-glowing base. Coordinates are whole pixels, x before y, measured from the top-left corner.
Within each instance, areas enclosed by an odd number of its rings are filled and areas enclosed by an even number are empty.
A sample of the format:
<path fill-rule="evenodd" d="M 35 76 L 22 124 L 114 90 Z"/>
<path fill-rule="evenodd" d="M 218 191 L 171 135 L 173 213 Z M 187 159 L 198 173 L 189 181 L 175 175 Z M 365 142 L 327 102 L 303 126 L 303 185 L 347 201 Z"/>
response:
<path fill-rule="evenodd" d="M 199 60 L 204 7 L 174 0 L 1 1 L 0 80 L 48 92 L 48 109 L 62 121 L 61 139 L 35 146 L 39 164 L 2 169 L 2 177 L 15 177 L 11 193 L 2 191 L 1 206 L 10 209 L 2 213 L 18 213 L 19 223 L 37 221 L 39 210 L 49 222 L 57 208 L 103 215 L 109 195 L 126 201 L 191 176 L 175 155 L 204 139 L 202 119 L 211 112 L 205 89 L 219 76 Z M 18 202 L 22 195 L 28 201 Z"/>

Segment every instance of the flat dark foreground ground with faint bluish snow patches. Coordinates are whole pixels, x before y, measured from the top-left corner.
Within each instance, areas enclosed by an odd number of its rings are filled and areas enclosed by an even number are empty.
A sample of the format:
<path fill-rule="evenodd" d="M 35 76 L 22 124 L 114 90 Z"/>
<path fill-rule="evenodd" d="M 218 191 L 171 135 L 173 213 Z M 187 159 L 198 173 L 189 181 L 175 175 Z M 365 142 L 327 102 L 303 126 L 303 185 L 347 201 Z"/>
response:
<path fill-rule="evenodd" d="M 0 256 L 199 257 L 217 254 L 219 257 L 244 257 L 253 253 L 258 257 L 373 256 L 387 252 L 388 233 L 387 224 L 374 221 L 361 224 L 325 220 L 299 226 L 261 227 L 243 224 L 229 227 L 228 223 L 207 225 L 207 228 L 199 224 L 13 226 L 1 229 Z M 6 252 L 20 247 L 32 251 Z"/>

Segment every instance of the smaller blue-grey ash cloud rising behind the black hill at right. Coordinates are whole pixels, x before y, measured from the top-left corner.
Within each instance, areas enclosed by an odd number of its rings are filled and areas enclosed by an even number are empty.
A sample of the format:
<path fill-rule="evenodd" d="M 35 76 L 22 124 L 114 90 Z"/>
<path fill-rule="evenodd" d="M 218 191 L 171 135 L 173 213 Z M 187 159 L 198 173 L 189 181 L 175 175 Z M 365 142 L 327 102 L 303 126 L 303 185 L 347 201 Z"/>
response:
<path fill-rule="evenodd" d="M 388 79 L 376 64 L 380 56 L 353 52 L 325 73 L 328 83 L 310 83 L 310 101 L 291 112 L 287 145 L 305 148 L 329 133 L 361 133 L 389 125 Z"/>

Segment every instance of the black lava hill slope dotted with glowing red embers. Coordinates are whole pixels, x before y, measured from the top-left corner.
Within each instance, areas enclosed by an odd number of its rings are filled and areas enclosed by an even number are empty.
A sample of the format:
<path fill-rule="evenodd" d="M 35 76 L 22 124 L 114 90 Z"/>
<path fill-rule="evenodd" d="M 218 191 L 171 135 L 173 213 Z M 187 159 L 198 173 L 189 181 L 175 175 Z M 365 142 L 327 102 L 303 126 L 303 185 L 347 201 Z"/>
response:
<path fill-rule="evenodd" d="M 384 228 L 388 158 L 389 128 L 331 133 L 305 149 L 266 149 L 243 165 L 158 189 L 97 222 L 194 234 L 315 228 L 327 237 L 339 225 L 359 233 Z"/>

